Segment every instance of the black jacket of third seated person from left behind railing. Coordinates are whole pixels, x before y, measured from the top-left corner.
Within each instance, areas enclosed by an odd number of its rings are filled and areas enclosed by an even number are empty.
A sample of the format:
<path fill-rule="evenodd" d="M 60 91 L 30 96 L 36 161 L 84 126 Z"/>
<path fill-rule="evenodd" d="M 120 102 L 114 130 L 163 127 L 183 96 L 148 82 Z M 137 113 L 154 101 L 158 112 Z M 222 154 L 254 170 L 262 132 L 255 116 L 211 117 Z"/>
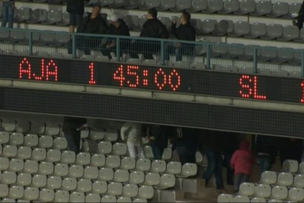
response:
<path fill-rule="evenodd" d="M 144 38 L 169 38 L 169 33 L 164 24 L 157 18 L 148 19 L 142 26 L 140 37 Z"/>

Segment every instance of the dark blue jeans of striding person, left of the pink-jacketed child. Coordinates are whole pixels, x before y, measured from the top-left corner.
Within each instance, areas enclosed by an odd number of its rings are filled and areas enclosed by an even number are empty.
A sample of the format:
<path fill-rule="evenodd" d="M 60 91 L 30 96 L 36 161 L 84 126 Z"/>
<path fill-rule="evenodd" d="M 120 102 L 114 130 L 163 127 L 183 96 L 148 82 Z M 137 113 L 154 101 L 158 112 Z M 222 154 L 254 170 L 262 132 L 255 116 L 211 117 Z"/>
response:
<path fill-rule="evenodd" d="M 206 150 L 205 151 L 208 166 L 207 170 L 204 174 L 204 179 L 206 180 L 206 185 L 209 183 L 210 178 L 214 174 L 215 181 L 216 181 L 216 188 L 223 189 L 223 178 L 222 178 L 222 161 L 219 152 L 215 152 L 214 150 Z"/>

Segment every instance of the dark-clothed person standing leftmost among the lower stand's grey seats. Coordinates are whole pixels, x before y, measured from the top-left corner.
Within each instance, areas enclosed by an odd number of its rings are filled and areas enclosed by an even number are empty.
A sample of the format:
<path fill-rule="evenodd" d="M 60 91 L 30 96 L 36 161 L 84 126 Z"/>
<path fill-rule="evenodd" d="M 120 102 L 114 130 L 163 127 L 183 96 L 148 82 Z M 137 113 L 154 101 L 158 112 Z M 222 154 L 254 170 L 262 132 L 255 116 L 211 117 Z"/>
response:
<path fill-rule="evenodd" d="M 88 126 L 87 119 L 64 117 L 62 131 L 67 141 L 69 150 L 78 154 L 80 151 L 80 131 Z"/>

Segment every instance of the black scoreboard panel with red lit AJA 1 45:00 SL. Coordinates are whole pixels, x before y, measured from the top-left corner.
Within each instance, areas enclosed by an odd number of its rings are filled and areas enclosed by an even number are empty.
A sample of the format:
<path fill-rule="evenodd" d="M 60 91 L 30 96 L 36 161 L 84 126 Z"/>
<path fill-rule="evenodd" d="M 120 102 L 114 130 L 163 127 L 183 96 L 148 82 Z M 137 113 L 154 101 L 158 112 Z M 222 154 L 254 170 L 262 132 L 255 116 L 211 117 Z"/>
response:
<path fill-rule="evenodd" d="M 0 78 L 304 104 L 304 79 L 123 63 L 0 55 Z"/>

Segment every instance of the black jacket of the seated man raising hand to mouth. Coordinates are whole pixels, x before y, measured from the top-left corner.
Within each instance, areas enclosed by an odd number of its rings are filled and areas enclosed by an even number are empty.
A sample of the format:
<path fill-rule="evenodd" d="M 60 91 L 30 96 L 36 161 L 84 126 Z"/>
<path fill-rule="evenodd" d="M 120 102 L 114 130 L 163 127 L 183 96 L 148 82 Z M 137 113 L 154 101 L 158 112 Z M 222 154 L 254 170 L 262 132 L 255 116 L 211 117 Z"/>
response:
<path fill-rule="evenodd" d="M 176 24 L 171 24 L 171 34 L 178 40 L 195 41 L 196 31 L 195 28 L 190 24 L 186 23 L 176 28 Z"/>

